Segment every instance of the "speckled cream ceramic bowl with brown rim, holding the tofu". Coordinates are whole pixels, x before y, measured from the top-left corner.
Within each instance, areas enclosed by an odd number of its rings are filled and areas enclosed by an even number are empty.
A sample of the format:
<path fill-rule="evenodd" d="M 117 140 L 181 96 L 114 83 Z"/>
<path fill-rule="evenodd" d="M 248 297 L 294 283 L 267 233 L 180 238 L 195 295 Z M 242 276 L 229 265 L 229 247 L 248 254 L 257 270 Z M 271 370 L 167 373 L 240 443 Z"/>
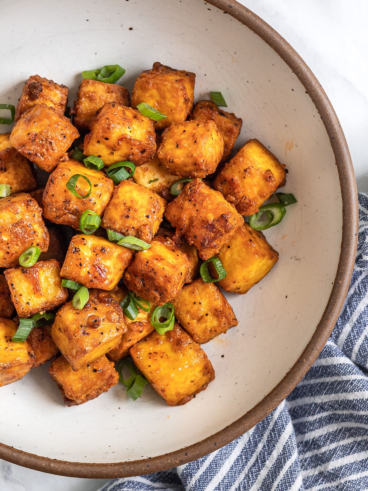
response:
<path fill-rule="evenodd" d="M 22 12 L 22 15 L 16 13 Z M 106 478 L 199 458 L 245 433 L 303 378 L 334 327 L 356 251 L 349 151 L 319 83 L 289 44 L 233 0 L 38 0 L 2 6 L 0 102 L 29 75 L 69 86 L 119 63 L 120 84 L 160 61 L 197 74 L 195 100 L 219 90 L 243 119 L 236 144 L 258 138 L 289 170 L 298 203 L 266 231 L 280 260 L 247 295 L 228 295 L 239 325 L 204 346 L 216 372 L 190 403 L 168 407 L 124 387 L 67 408 L 47 367 L 1 388 L 0 457 L 44 472 Z M 1 126 L 1 132 L 8 127 Z M 283 190 L 283 191 L 284 191 Z"/>

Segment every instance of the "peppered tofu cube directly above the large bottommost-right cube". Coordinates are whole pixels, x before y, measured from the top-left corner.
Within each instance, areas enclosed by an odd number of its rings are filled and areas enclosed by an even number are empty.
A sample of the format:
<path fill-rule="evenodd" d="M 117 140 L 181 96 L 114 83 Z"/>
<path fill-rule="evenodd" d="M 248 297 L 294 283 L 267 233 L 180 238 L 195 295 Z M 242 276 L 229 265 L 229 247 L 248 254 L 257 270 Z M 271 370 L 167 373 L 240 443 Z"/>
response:
<path fill-rule="evenodd" d="M 215 336 L 237 326 L 237 319 L 229 302 L 214 283 L 198 278 L 184 285 L 172 300 L 175 317 L 196 343 L 207 343 Z"/>

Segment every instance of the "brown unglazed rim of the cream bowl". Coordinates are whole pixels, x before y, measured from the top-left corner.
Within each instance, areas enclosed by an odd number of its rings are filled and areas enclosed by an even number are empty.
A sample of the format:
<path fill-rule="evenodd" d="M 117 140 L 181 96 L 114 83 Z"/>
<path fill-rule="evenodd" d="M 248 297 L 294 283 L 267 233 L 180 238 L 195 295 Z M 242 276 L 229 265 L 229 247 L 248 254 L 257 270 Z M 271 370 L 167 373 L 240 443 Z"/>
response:
<path fill-rule="evenodd" d="M 336 324 L 353 273 L 358 240 L 358 196 L 355 175 L 338 117 L 309 67 L 272 27 L 235 0 L 207 0 L 205 3 L 218 7 L 249 27 L 289 65 L 314 102 L 330 138 L 342 191 L 342 251 L 331 296 L 323 316 L 311 341 L 284 379 L 244 416 L 198 443 L 158 457 L 114 464 L 88 464 L 49 459 L 0 443 L 1 459 L 51 474 L 95 479 L 148 474 L 199 459 L 243 435 L 275 409 L 313 365 Z"/>

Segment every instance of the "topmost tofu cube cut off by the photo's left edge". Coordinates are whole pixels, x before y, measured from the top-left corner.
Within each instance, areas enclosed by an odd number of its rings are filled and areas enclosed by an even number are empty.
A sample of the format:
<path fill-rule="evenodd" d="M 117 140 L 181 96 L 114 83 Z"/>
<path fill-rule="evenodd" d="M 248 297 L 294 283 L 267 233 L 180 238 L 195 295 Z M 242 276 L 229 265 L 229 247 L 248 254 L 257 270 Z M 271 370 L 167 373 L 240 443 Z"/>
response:
<path fill-rule="evenodd" d="M 13 148 L 10 133 L 0 135 L 0 183 L 9 184 L 10 194 L 37 187 L 33 165 Z"/>

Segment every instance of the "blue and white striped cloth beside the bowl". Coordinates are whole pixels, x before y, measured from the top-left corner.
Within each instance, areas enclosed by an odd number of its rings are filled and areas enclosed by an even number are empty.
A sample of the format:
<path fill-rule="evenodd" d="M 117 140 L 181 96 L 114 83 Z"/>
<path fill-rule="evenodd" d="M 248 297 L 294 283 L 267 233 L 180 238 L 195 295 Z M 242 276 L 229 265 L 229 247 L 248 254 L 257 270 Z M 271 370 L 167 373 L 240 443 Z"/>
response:
<path fill-rule="evenodd" d="M 355 269 L 311 370 L 261 423 L 212 454 L 102 491 L 368 490 L 368 195 Z"/>

